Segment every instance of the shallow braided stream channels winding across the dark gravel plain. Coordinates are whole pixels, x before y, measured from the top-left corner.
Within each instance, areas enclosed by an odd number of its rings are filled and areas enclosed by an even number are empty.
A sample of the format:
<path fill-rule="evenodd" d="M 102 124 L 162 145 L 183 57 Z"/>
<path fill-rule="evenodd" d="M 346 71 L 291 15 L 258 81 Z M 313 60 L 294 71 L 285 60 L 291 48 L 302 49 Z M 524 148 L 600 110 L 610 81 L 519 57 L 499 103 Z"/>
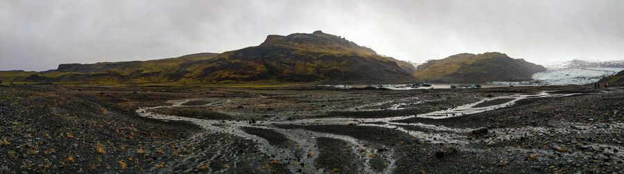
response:
<path fill-rule="evenodd" d="M 421 139 L 424 142 L 430 143 L 447 143 L 447 144 L 468 144 L 469 140 L 465 139 L 465 135 L 463 133 L 469 133 L 474 130 L 471 128 L 449 128 L 446 126 L 440 125 L 432 125 L 432 124 L 422 124 L 422 123 L 401 123 L 397 122 L 404 119 L 411 118 L 426 118 L 426 119 L 447 119 L 451 117 L 463 117 L 466 115 L 483 113 L 489 110 L 495 110 L 498 108 L 505 108 L 514 105 L 517 101 L 521 99 L 528 98 L 542 98 L 542 97 L 568 97 L 572 95 L 580 95 L 580 93 L 568 93 L 568 94 L 559 94 L 554 93 L 555 91 L 543 91 L 541 93 L 533 93 L 533 94 L 515 94 L 515 95 L 507 95 L 500 97 L 492 97 L 487 99 L 481 99 L 480 101 L 476 101 L 471 104 L 465 104 L 462 106 L 457 106 L 456 108 L 449 108 L 446 110 L 437 110 L 431 113 L 424 113 L 419 115 L 408 115 L 401 117 L 383 117 L 383 118 L 336 118 L 336 117 L 326 117 L 326 118 L 314 118 L 314 119 L 297 119 L 292 121 L 263 121 L 257 122 L 254 124 L 248 124 L 245 122 L 239 121 L 227 121 L 227 120 L 211 120 L 211 119 L 196 119 L 191 117 L 180 117 L 175 115 L 163 115 L 159 113 L 154 113 L 151 110 L 159 109 L 159 108 L 172 108 L 172 107 L 205 107 L 205 106 L 217 106 L 220 104 L 224 104 L 229 102 L 227 99 L 182 99 L 182 100 L 171 100 L 167 101 L 168 106 L 156 106 L 156 107 L 145 107 L 139 108 L 136 112 L 141 117 L 148 117 L 152 119 L 160 119 L 163 121 L 185 121 L 191 122 L 203 128 L 205 132 L 198 133 L 191 137 L 191 139 L 200 139 L 201 136 L 205 136 L 209 133 L 227 133 L 238 137 L 243 137 L 245 139 L 252 139 L 254 142 L 259 143 L 261 148 L 259 149 L 261 153 L 264 153 L 270 157 L 274 157 L 275 159 L 293 159 L 297 158 L 302 160 L 305 165 L 295 166 L 288 165 L 288 168 L 291 172 L 297 173 L 297 171 L 302 171 L 304 173 L 323 173 L 323 171 L 318 171 L 317 168 L 314 167 L 315 157 L 318 155 L 309 156 L 300 153 L 296 153 L 295 151 L 284 151 L 284 149 L 279 148 L 277 146 L 272 146 L 268 140 L 258 137 L 256 135 L 251 135 L 249 133 L 245 133 L 243 128 L 252 127 L 252 128 L 264 128 L 272 131 L 276 131 L 284 134 L 288 139 L 296 142 L 300 148 L 307 149 L 309 153 L 318 154 L 318 147 L 316 145 L 317 137 L 330 137 L 334 139 L 341 139 L 345 142 L 349 142 L 351 144 L 359 145 L 364 144 L 361 142 L 362 140 L 355 139 L 353 137 L 345 136 L 345 135 L 335 135 L 331 133 L 318 133 L 314 131 L 306 131 L 302 129 L 284 129 L 284 128 L 276 128 L 275 124 L 285 124 L 285 125 L 357 125 L 357 126 L 377 126 L 382 128 L 391 128 L 397 131 L 402 131 L 411 135 L 417 139 Z M 484 102 L 499 100 L 503 102 L 493 102 L 493 104 L 489 104 L 483 106 Z M 191 104 L 193 103 L 193 104 Z M 480 105 L 481 104 L 481 105 Z M 400 107 L 394 107 L 393 109 L 402 109 Z M 429 130 L 437 131 L 434 133 L 431 132 L 422 132 L 422 131 L 411 131 L 401 126 L 418 126 L 421 128 L 426 128 Z M 189 140 L 191 141 L 191 140 Z M 376 173 L 372 171 L 371 166 L 369 166 L 368 160 L 370 157 L 367 157 L 365 154 L 374 153 L 376 149 L 367 148 L 366 146 L 353 146 L 352 152 L 358 155 L 358 158 L 364 162 L 364 170 L 367 173 Z M 366 152 L 366 153 L 358 153 L 358 152 Z M 394 153 L 390 150 L 390 153 Z M 198 154 L 190 154 L 189 156 L 197 156 Z M 390 165 L 385 169 L 385 173 L 390 173 L 394 168 L 392 165 L 395 160 L 392 159 L 392 155 L 385 155 L 385 158 Z M 306 167 L 303 167 L 306 166 Z M 234 166 L 236 167 L 236 166 Z M 211 172 L 219 172 L 212 171 Z"/>

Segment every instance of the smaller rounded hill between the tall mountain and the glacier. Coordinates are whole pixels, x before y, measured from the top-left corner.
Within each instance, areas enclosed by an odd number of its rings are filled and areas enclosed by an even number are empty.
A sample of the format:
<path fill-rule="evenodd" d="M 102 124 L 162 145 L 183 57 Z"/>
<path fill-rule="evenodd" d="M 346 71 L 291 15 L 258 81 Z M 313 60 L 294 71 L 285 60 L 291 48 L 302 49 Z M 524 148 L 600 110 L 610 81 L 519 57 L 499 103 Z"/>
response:
<path fill-rule="evenodd" d="M 480 55 L 463 53 L 431 60 L 417 67 L 421 81 L 449 83 L 484 83 L 487 81 L 527 81 L 546 68 L 524 59 L 513 59 L 500 52 Z"/>

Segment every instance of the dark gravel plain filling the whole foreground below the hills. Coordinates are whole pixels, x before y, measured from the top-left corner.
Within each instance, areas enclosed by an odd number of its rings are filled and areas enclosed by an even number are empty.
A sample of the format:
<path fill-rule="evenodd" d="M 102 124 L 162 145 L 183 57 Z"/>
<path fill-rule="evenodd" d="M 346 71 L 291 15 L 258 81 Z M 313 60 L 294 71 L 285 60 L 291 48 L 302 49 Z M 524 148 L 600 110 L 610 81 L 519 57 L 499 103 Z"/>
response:
<path fill-rule="evenodd" d="M 0 86 L 0 129 L 0 173 L 622 173 L 624 89 Z"/>

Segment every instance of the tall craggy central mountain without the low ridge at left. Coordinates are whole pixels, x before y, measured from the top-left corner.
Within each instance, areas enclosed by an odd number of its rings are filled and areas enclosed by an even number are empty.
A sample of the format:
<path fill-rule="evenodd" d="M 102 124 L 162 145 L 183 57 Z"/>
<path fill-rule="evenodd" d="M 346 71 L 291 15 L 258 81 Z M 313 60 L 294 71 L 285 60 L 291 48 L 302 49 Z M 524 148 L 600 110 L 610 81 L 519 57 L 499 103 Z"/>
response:
<path fill-rule="evenodd" d="M 320 31 L 269 35 L 191 68 L 196 81 L 411 81 L 413 66 Z"/>

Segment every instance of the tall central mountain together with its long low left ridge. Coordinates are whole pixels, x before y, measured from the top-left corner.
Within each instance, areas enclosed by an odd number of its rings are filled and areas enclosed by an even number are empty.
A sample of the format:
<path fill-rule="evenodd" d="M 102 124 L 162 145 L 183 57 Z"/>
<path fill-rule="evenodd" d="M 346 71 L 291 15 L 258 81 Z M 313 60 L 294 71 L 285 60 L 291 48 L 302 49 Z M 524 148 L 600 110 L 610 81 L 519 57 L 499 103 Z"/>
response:
<path fill-rule="evenodd" d="M 415 68 L 406 61 L 376 54 L 342 37 L 320 31 L 269 35 L 259 46 L 150 61 L 61 64 L 23 77 L 55 82 L 389 82 L 412 81 Z"/>

